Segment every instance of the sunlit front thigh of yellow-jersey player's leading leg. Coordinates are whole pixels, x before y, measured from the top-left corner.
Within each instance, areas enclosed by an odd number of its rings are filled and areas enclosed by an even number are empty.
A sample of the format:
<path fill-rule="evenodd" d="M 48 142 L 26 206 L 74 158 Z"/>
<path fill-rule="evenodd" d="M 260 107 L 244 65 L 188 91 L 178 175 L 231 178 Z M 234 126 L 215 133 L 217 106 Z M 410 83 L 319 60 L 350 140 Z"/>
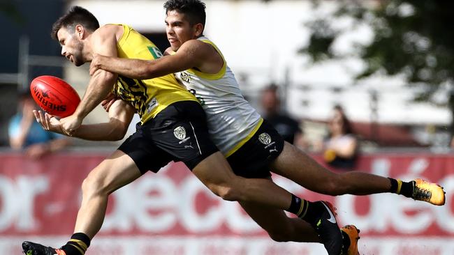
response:
<path fill-rule="evenodd" d="M 112 193 L 142 175 L 136 163 L 121 150 L 115 150 L 87 176 L 84 186 Z M 88 186 L 88 187 L 87 187 Z"/>

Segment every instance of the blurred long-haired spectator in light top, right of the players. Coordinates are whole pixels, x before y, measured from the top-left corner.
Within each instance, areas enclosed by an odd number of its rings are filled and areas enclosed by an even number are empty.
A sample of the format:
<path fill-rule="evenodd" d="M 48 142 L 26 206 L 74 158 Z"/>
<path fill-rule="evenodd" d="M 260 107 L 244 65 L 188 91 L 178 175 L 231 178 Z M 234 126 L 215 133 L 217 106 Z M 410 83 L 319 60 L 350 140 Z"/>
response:
<path fill-rule="evenodd" d="M 328 123 L 329 133 L 323 142 L 323 158 L 332 167 L 351 170 L 358 156 L 358 139 L 351 130 L 349 119 L 340 105 Z"/>

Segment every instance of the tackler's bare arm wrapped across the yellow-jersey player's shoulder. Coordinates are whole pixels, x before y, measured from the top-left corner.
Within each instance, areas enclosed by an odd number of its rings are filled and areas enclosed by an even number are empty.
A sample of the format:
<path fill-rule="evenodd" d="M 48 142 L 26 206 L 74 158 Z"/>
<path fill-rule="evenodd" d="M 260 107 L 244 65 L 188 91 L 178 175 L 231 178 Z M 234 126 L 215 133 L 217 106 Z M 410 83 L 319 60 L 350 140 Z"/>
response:
<path fill-rule="evenodd" d="M 184 42 L 175 54 L 155 60 L 121 59 L 95 54 L 90 64 L 90 74 L 95 74 L 101 69 L 133 79 L 152 79 L 200 67 L 212 51 L 212 46 L 205 42 L 189 40 Z"/>

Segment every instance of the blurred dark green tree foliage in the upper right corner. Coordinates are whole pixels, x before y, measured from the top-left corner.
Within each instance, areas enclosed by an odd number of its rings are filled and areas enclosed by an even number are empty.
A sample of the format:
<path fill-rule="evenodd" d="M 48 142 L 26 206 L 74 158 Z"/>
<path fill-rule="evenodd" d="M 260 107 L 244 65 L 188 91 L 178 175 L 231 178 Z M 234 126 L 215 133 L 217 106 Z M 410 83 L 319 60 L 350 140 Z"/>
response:
<path fill-rule="evenodd" d="M 300 52 L 314 62 L 341 58 L 332 45 L 345 32 L 335 29 L 333 22 L 342 17 L 367 24 L 374 34 L 369 43 L 357 47 L 366 66 L 357 79 L 377 72 L 403 75 L 409 86 L 420 88 L 416 100 L 444 103 L 454 112 L 453 1 L 339 1 L 331 17 L 307 24 L 311 35 Z M 444 102 L 434 100 L 440 90 L 448 93 Z"/>

